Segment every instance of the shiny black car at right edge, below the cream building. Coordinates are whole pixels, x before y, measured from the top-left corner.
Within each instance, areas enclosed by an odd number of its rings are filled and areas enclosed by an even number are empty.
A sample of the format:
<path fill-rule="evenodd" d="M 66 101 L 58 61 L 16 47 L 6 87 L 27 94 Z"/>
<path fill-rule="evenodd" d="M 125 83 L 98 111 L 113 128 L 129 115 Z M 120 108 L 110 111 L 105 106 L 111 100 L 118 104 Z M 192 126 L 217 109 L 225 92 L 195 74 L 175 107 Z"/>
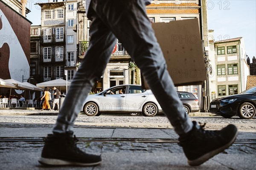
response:
<path fill-rule="evenodd" d="M 256 113 L 256 86 L 227 97 L 212 100 L 210 113 L 219 114 L 224 118 L 238 115 L 241 119 L 252 119 Z"/>

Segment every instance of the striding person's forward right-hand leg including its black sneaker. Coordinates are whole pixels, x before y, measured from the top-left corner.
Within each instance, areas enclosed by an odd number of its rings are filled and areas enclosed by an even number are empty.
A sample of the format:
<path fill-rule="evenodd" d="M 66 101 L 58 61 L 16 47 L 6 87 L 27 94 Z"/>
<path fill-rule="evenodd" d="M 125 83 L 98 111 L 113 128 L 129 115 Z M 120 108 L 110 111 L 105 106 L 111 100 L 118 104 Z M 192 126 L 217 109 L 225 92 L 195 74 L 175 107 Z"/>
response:
<path fill-rule="evenodd" d="M 180 145 L 188 158 L 188 163 L 193 166 L 200 165 L 229 147 L 238 133 L 234 125 L 228 125 L 218 131 L 207 131 L 196 122 L 189 120 L 177 96 L 160 45 L 146 15 L 145 1 L 93 0 L 92 2 L 95 11 L 111 28 L 141 69 L 175 132 L 180 136 Z M 101 4 L 103 2 L 106 2 L 104 6 Z"/>

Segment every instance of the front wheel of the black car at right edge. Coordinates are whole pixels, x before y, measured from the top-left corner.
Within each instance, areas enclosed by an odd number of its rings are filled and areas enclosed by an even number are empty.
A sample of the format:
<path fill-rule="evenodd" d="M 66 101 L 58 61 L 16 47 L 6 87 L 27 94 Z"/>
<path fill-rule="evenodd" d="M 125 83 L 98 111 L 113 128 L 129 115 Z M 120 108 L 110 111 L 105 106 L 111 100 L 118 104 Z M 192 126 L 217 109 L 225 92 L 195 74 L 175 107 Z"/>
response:
<path fill-rule="evenodd" d="M 252 119 L 255 116 L 256 110 L 253 104 L 244 102 L 240 105 L 238 110 L 238 116 L 241 119 Z"/>

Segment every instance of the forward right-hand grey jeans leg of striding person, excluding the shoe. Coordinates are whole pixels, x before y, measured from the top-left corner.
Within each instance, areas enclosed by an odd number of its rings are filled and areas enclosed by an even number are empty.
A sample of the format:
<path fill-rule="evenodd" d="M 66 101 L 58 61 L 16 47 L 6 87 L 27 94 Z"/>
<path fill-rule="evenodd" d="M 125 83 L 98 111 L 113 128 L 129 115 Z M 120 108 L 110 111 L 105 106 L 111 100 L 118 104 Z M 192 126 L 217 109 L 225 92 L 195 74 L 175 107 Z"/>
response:
<path fill-rule="evenodd" d="M 145 13 L 145 1 L 104 2 L 94 0 L 91 6 L 134 59 L 176 133 L 189 132 L 192 122 L 166 69 L 166 61 Z"/>

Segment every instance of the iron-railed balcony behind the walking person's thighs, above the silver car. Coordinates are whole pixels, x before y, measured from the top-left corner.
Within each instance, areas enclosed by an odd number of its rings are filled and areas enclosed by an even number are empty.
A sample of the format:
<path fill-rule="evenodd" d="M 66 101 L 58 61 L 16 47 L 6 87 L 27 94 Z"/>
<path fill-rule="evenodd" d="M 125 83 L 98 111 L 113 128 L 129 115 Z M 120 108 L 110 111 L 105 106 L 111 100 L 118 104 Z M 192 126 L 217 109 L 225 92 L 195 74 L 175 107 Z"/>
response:
<path fill-rule="evenodd" d="M 84 53 L 87 51 L 89 47 L 89 41 L 80 41 L 79 42 L 79 56 L 84 56 Z M 119 41 L 116 42 L 116 45 L 113 49 L 112 56 L 129 56 L 128 52 L 123 47 L 122 43 Z"/>

